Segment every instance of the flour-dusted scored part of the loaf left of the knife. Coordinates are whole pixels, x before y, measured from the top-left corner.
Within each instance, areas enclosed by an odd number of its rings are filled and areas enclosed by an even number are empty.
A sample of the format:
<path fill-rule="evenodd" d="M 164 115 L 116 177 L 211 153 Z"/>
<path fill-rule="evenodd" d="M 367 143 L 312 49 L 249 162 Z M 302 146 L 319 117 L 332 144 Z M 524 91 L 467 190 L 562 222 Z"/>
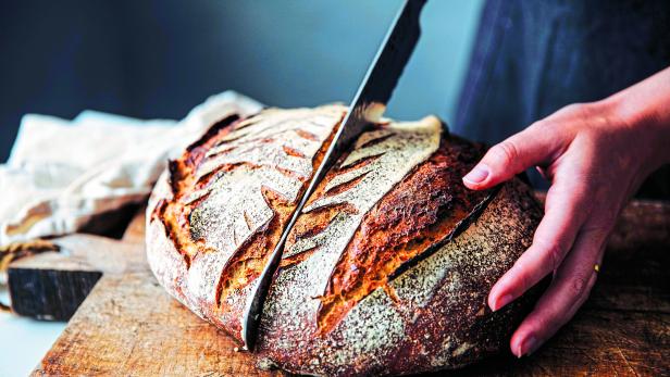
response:
<path fill-rule="evenodd" d="M 229 116 L 170 162 L 147 209 L 148 262 L 169 293 L 241 341 L 255 281 L 345 112 Z"/>

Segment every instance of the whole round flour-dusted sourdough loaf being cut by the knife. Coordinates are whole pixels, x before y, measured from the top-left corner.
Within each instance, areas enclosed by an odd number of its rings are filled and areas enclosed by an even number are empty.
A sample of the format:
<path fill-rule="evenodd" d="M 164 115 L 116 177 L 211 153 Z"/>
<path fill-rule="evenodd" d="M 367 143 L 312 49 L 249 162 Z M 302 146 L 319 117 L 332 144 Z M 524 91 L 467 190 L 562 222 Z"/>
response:
<path fill-rule="evenodd" d="M 159 281 L 240 339 L 249 292 L 346 109 L 224 120 L 170 164 L 148 209 Z M 496 313 L 495 281 L 542 211 L 518 179 L 470 191 L 481 146 L 435 117 L 370 125 L 320 183 L 261 314 L 260 364 L 311 375 L 455 368 L 506 347 L 532 297 Z"/>

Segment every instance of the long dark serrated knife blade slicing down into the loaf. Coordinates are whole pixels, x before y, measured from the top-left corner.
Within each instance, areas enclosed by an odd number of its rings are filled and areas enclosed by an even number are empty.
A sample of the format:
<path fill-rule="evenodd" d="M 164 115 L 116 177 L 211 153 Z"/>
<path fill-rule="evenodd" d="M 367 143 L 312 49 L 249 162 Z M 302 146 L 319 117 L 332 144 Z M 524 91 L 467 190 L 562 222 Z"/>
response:
<path fill-rule="evenodd" d="M 268 264 L 256 280 L 241 323 L 241 338 L 248 350 L 252 350 L 255 345 L 260 311 L 274 271 L 282 259 L 282 250 L 290 229 L 302 212 L 308 198 L 323 179 L 328 168 L 337 161 L 340 153 L 361 135 L 370 123 L 377 121 L 384 113 L 386 103 L 390 99 L 421 35 L 419 16 L 426 1 L 404 1 L 359 86 L 353 101 L 349 105 L 342 126 L 337 129 L 331 146 L 326 150 L 321 165 L 310 180 L 307 190 L 302 193 L 300 202 L 296 206 L 278 243 L 272 251 Z"/>

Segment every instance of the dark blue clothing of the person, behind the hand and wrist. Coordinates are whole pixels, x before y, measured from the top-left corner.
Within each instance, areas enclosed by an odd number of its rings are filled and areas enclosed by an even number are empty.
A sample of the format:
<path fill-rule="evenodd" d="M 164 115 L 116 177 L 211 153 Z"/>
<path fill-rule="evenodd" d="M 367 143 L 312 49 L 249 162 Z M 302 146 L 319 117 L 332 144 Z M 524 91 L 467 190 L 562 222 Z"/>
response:
<path fill-rule="evenodd" d="M 489 0 L 455 133 L 493 144 L 567 104 L 604 99 L 667 66 L 668 0 Z M 534 172 L 531 180 L 546 187 Z M 670 198 L 670 168 L 640 194 Z"/>

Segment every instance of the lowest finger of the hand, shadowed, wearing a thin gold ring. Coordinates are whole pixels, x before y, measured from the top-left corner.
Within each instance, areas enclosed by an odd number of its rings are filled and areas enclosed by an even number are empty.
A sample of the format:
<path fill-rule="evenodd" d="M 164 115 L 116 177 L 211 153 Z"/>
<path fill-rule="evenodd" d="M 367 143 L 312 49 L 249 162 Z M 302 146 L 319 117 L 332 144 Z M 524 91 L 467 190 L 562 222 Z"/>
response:
<path fill-rule="evenodd" d="M 510 340 L 510 349 L 518 357 L 539 348 L 586 301 L 597 278 L 595 265 L 600 264 L 607 234 L 601 228 L 580 233 L 551 285 Z"/>

